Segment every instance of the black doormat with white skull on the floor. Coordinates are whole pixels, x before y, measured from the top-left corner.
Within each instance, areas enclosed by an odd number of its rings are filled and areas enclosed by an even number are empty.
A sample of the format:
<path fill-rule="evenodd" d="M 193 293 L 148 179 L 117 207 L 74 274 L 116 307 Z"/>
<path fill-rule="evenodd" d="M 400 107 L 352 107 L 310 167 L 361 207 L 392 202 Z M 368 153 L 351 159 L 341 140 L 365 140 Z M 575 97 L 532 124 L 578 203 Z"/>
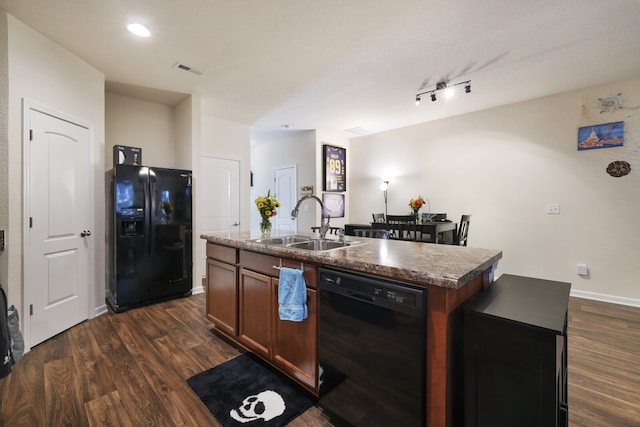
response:
<path fill-rule="evenodd" d="M 187 383 L 224 427 L 284 426 L 315 402 L 251 353 L 194 375 Z"/>

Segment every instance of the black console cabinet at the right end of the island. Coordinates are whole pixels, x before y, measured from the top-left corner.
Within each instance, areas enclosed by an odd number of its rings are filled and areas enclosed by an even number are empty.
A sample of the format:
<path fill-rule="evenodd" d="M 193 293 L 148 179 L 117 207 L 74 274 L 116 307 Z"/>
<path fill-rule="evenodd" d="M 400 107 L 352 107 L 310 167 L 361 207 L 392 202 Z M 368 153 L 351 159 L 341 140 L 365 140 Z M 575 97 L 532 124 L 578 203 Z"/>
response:
<path fill-rule="evenodd" d="M 570 283 L 503 274 L 464 307 L 466 427 L 566 427 Z"/>

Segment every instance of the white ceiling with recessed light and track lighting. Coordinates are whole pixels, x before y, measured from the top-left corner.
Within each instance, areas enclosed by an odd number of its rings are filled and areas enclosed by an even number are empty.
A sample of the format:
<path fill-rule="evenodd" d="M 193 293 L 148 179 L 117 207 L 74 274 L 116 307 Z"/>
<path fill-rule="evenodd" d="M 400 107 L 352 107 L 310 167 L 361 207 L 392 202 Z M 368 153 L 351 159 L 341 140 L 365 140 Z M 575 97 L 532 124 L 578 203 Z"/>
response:
<path fill-rule="evenodd" d="M 638 0 L 0 0 L 0 8 L 104 72 L 108 90 L 167 103 L 197 94 L 206 114 L 251 125 L 256 140 L 284 124 L 375 133 L 640 74 Z M 133 21 L 152 37 L 129 34 Z M 443 80 L 471 80 L 472 92 L 415 105 L 417 92 Z M 173 93 L 154 98 L 149 88 Z"/>

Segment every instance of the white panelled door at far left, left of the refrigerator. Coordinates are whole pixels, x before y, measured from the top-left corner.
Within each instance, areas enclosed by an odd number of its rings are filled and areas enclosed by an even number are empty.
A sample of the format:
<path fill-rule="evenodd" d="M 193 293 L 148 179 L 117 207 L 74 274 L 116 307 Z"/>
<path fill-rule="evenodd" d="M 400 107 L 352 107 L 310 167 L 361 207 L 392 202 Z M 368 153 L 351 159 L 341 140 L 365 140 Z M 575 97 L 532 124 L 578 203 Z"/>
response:
<path fill-rule="evenodd" d="M 29 345 L 88 318 L 89 129 L 29 109 L 25 280 Z M 26 304 L 25 304 L 26 305 Z"/>

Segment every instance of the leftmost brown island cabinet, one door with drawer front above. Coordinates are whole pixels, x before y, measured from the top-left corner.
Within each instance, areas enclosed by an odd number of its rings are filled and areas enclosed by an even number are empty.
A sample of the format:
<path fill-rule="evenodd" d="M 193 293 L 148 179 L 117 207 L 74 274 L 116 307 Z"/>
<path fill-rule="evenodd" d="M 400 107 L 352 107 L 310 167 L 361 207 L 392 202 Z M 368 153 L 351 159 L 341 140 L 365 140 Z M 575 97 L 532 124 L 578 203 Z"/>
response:
<path fill-rule="evenodd" d="M 238 333 L 237 251 L 221 245 L 207 244 L 207 319 L 225 334 Z"/>

